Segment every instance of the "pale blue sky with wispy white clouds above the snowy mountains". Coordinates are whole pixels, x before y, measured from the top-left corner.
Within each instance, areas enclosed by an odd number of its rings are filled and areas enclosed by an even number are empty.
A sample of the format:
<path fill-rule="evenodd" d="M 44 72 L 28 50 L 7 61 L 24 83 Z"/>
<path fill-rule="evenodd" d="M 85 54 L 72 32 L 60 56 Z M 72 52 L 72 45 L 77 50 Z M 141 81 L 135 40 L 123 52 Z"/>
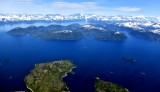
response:
<path fill-rule="evenodd" d="M 0 13 L 160 16 L 160 0 L 1 0 Z"/>

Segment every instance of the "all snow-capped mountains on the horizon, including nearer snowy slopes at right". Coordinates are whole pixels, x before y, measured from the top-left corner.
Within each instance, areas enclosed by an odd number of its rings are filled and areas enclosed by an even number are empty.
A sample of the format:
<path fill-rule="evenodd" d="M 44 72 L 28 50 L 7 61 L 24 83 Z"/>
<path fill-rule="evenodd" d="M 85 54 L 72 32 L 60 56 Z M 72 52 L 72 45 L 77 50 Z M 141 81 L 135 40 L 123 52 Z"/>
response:
<path fill-rule="evenodd" d="M 19 22 L 86 22 L 105 23 L 138 30 L 140 33 L 160 35 L 160 17 L 145 16 L 100 16 L 95 14 L 0 14 L 0 24 Z M 136 31 L 135 31 L 136 32 Z M 153 36 L 152 36 L 153 37 Z M 158 36 L 159 37 L 159 36 Z"/>

